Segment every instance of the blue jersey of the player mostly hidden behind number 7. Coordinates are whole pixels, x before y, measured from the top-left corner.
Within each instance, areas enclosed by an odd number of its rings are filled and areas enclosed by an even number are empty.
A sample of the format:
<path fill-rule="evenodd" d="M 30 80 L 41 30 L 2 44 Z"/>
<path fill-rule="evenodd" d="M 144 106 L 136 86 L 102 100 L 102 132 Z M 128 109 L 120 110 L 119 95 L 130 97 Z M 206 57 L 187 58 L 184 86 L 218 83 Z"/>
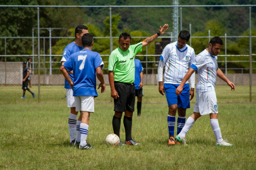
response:
<path fill-rule="evenodd" d="M 63 57 L 61 59 L 61 62 L 63 62 L 63 61 L 66 62 L 69 59 L 71 54 L 74 54 L 75 52 L 79 52 L 80 50 L 83 50 L 83 47 L 76 45 L 75 42 L 71 42 L 69 45 L 67 45 L 64 48 Z M 69 75 L 70 75 L 71 80 L 73 81 L 74 80 L 73 74 L 69 74 Z M 70 84 L 68 84 L 68 81 L 66 81 L 66 79 L 65 79 L 64 88 L 71 89 Z"/>

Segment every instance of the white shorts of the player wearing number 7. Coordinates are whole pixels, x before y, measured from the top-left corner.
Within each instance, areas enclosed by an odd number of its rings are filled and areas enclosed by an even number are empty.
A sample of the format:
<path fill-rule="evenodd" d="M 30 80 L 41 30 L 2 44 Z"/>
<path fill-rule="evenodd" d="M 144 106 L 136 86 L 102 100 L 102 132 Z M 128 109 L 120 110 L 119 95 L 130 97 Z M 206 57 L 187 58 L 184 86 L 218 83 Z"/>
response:
<path fill-rule="evenodd" d="M 94 113 L 94 96 L 75 96 L 76 111 Z"/>

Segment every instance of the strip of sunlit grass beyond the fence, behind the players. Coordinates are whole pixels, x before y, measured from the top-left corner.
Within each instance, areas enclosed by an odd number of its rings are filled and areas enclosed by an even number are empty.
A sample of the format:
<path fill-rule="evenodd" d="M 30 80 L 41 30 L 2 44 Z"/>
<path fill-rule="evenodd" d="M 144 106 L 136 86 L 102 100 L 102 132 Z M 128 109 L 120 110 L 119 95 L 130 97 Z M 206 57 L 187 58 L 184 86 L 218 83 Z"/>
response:
<path fill-rule="evenodd" d="M 35 98 L 28 93 L 25 99 L 20 99 L 23 94 L 21 86 L 0 86 L 0 104 L 23 104 L 38 103 L 38 88 L 30 88 L 35 93 Z M 97 103 L 109 103 L 111 101 L 110 86 L 106 86 L 106 92 L 101 94 L 98 90 L 99 98 L 95 98 Z M 166 103 L 165 96 L 158 91 L 158 86 L 143 86 L 143 103 Z M 231 91 L 229 86 L 216 86 L 217 101 L 219 103 L 241 103 L 250 101 L 250 87 L 236 86 L 235 91 Z M 40 103 L 66 103 L 66 91 L 63 86 L 40 86 Z M 256 102 L 256 86 L 252 86 L 252 101 Z M 195 103 L 195 98 L 192 99 Z"/>

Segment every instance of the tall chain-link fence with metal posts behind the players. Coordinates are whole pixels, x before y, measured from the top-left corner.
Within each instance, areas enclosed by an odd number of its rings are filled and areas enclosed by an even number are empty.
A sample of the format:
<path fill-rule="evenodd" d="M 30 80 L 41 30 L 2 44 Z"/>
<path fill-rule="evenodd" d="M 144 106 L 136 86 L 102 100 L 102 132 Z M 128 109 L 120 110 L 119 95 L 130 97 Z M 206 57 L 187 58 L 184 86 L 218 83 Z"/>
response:
<path fill-rule="evenodd" d="M 37 7 L 37 6 L 36 6 Z M 27 10 L 33 16 L 24 16 L 22 20 L 30 20 L 34 17 L 32 24 L 28 25 L 21 22 L 16 28 L 8 28 L 0 37 L 0 103 L 26 103 L 26 102 L 44 102 L 44 103 L 65 103 L 63 99 L 66 96 L 64 89 L 64 77 L 61 74 L 59 68 L 61 67 L 61 58 L 64 47 L 75 40 L 74 28 L 62 27 L 50 23 L 47 28 L 40 28 L 40 23 L 44 22 L 46 17 L 38 16 L 39 11 L 42 9 L 50 9 L 47 6 L 39 6 L 40 8 L 23 7 L 19 6 L 16 9 L 15 6 L 0 6 L 0 10 L 3 8 L 15 8 L 16 11 Z M 56 6 L 54 10 L 58 13 L 67 9 L 68 6 L 59 8 Z M 171 26 L 173 17 L 173 8 L 175 6 L 97 6 L 88 7 L 82 6 L 80 10 L 85 9 L 85 14 L 88 15 L 88 11 L 98 11 L 97 16 L 90 16 L 94 20 L 87 20 L 85 25 L 88 26 L 89 32 L 94 35 L 94 47 L 93 50 L 99 52 L 104 60 L 105 68 L 104 79 L 107 84 L 106 93 L 100 94 L 99 98 L 95 98 L 96 102 L 104 103 L 111 101 L 110 86 L 107 76 L 108 58 L 112 50 L 118 47 L 118 36 L 122 31 L 128 31 L 131 33 L 132 44 L 142 42 L 145 38 L 153 35 L 159 29 L 160 25 L 164 23 L 169 24 L 169 30 L 167 33 L 158 38 L 154 43 L 151 43 L 147 47 L 144 47 L 142 53 L 137 54 L 137 59 L 140 59 L 143 66 L 143 102 L 166 102 L 164 96 L 159 94 L 158 82 L 157 82 L 157 65 L 159 62 L 159 54 L 156 54 L 157 42 L 168 40 L 174 42 L 177 37 L 174 37 L 173 28 Z M 182 6 L 177 6 L 182 7 Z M 186 6 L 183 6 L 186 7 Z M 252 54 L 252 48 L 256 43 L 256 34 L 252 31 L 243 33 L 239 36 L 227 36 L 226 33 L 217 34 L 217 28 L 212 30 L 201 31 L 198 30 L 198 24 L 202 21 L 198 21 L 197 18 L 190 18 L 188 20 L 184 15 L 189 14 L 189 11 L 199 11 L 198 6 L 189 6 L 190 8 L 182 8 L 180 12 L 180 29 L 189 30 L 192 33 L 192 37 L 188 45 L 195 48 L 196 54 L 207 48 L 210 38 L 219 36 L 224 40 L 224 45 L 221 50 L 221 54 L 218 55 L 219 68 L 226 74 L 228 79 L 235 83 L 236 90 L 231 92 L 230 88 L 224 81 L 217 78 L 216 81 L 216 93 L 219 102 L 248 102 L 256 101 L 256 64 L 255 54 Z M 52 8 L 52 7 L 51 7 Z M 74 7 L 71 7 L 75 9 Z M 211 8 L 208 6 L 207 8 Z M 216 8 L 216 7 L 215 7 Z M 243 8 L 249 9 L 250 6 L 236 6 L 221 8 Z M 251 9 L 250 9 L 251 10 Z M 38 12 L 38 13 L 37 13 Z M 248 18 L 249 18 L 249 10 Z M 155 13 L 150 20 L 141 20 L 140 16 L 147 13 Z M 209 13 L 213 13 L 212 16 L 216 16 L 215 13 L 209 10 Z M 182 20 L 182 14 L 184 21 Z M 130 16 L 130 17 L 128 17 Z M 9 18 L 8 18 L 9 17 Z M 14 22 L 11 16 L 6 14 L 6 20 Z M 39 20 L 35 18 L 40 18 Z M 68 18 L 68 16 L 65 16 Z M 108 18 L 108 19 L 107 19 Z M 109 20 L 112 18 L 112 20 Z M 134 20 L 131 20 L 133 18 Z M 21 18 L 20 18 L 21 19 Z M 214 19 L 214 18 L 213 18 Z M 71 20 L 71 18 L 70 18 Z M 19 21 L 16 20 L 18 23 Z M 198 23 L 197 23 L 198 21 Z M 216 20 L 214 20 L 216 21 Z M 76 21 L 76 25 L 80 25 L 79 21 Z M 245 29 L 251 28 L 250 18 L 247 22 Z M 94 24 L 92 24 L 94 23 Z M 39 24 L 39 25 L 38 25 Z M 210 23 L 209 23 L 210 24 Z M 3 22 L 0 22 L 0 27 L 3 27 Z M 37 26 L 37 27 L 35 27 Z M 25 27 L 21 29 L 20 27 Z M 143 27 L 143 30 L 142 30 Z M 207 28 L 207 26 L 206 26 Z M 206 29 L 205 28 L 205 29 Z M 11 30 L 12 29 L 12 30 Z M 15 31 L 13 31 L 13 29 Z M 214 30 L 215 29 L 215 30 Z M 220 28 L 222 29 L 222 28 Z M 236 29 L 236 28 L 233 28 Z M 20 31 L 22 30 L 22 31 Z M 111 30 L 111 31 L 110 31 Z M 194 31 L 193 31 L 194 30 Z M 39 34 L 38 34 L 39 32 Z M 195 33 L 193 33 L 195 32 Z M 236 33 L 236 31 L 233 31 Z M 250 42 L 251 39 L 251 42 Z M 236 42 L 236 43 L 234 43 Z M 238 47 L 243 46 L 240 51 Z M 253 47 L 254 48 L 254 47 Z M 163 49 L 163 48 L 162 48 Z M 161 49 L 161 50 L 162 50 Z M 254 52 L 255 49 L 253 49 Z M 250 62 L 250 54 L 252 54 L 252 60 Z M 22 96 L 21 84 L 23 79 L 22 69 L 23 61 L 27 61 L 28 57 L 32 57 L 32 88 L 30 88 L 36 95 L 36 98 L 32 98 L 29 93 L 26 94 L 25 100 L 20 99 Z M 251 65 L 251 66 L 250 66 Z M 250 69 L 250 67 L 252 67 Z M 251 70 L 251 71 L 250 71 Z M 250 78 L 251 77 L 251 78 Z M 196 74 L 196 84 L 198 82 Z M 40 83 L 39 83 L 40 81 Z M 250 82 L 251 81 L 251 82 Z M 99 84 L 99 82 L 97 82 Z M 195 99 L 193 99 L 195 101 Z"/>

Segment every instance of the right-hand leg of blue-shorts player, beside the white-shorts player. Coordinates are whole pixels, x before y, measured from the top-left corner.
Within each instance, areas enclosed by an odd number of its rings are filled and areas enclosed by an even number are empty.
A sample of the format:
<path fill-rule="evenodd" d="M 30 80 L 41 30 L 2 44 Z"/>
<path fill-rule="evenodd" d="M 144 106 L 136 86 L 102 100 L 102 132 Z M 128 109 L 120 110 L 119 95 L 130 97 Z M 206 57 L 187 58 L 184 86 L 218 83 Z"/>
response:
<path fill-rule="evenodd" d="M 177 135 L 181 132 L 186 122 L 186 109 L 190 108 L 190 86 L 185 84 L 182 93 L 178 96 Z"/>

